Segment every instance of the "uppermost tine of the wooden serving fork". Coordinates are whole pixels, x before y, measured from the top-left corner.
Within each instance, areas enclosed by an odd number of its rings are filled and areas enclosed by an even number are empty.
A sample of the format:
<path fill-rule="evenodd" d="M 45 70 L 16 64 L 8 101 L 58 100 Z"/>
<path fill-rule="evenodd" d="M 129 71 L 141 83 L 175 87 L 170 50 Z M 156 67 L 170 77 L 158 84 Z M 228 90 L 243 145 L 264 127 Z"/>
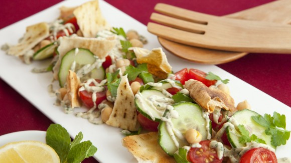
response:
<path fill-rule="evenodd" d="M 155 6 L 155 11 L 162 13 L 164 15 L 171 16 L 173 18 L 182 19 L 188 22 L 198 23 L 198 24 L 208 24 L 209 20 L 212 20 L 213 17 L 207 14 L 202 14 L 175 6 L 159 3 Z"/>

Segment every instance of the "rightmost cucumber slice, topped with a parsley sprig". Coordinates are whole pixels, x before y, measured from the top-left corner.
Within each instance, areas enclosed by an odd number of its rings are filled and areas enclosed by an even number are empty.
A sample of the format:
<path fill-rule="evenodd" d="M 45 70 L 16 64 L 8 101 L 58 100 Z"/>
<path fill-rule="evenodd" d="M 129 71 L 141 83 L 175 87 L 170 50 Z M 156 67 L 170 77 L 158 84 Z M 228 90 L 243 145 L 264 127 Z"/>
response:
<path fill-rule="evenodd" d="M 275 149 L 275 147 L 271 145 L 271 135 L 265 134 L 266 128 L 257 124 L 254 120 L 252 120 L 251 116 L 257 116 L 257 115 L 259 114 L 254 111 L 243 109 L 234 113 L 232 115 L 232 118 L 234 118 L 236 121 L 236 124 L 234 125 L 240 125 L 240 124 L 244 125 L 244 127 L 250 132 L 250 134 L 254 134 L 258 138 L 263 139 L 267 145 Z M 227 127 L 225 131 L 226 131 L 227 139 L 229 140 L 232 147 L 246 146 L 246 144 L 242 144 L 239 142 L 239 137 L 241 136 L 241 134 L 239 133 L 238 130 L 232 127 Z"/>

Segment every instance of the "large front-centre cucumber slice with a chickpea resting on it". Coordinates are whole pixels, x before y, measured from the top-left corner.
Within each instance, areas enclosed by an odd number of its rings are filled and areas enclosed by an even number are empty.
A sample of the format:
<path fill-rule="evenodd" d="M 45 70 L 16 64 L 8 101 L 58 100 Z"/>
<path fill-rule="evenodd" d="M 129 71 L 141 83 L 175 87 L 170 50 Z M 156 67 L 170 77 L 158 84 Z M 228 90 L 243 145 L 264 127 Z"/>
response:
<path fill-rule="evenodd" d="M 203 111 L 199 105 L 191 102 L 179 102 L 174 104 L 173 107 L 179 113 L 179 118 L 171 119 L 171 121 L 174 124 L 174 128 L 179 130 L 183 135 L 185 135 L 185 132 L 188 129 L 194 128 L 202 134 L 202 140 L 207 139 L 208 134 L 211 134 L 211 122 L 209 123 L 203 117 Z M 209 130 L 207 129 L 208 126 Z M 158 141 L 162 149 L 167 154 L 171 156 L 174 155 L 174 153 L 179 148 L 176 147 L 174 140 L 170 136 L 165 121 L 160 122 L 158 131 L 159 131 Z M 186 140 L 180 140 L 179 138 L 177 138 L 177 140 L 179 142 L 180 147 L 189 145 L 189 143 Z"/>

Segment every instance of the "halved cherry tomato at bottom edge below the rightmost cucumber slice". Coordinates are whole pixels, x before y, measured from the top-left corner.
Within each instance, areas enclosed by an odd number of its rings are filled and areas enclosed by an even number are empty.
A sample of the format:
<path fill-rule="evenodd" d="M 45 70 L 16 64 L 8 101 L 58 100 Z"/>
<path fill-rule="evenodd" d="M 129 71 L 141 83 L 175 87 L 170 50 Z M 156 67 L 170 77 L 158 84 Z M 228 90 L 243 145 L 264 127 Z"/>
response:
<path fill-rule="evenodd" d="M 265 149 L 263 147 L 253 148 L 248 150 L 240 158 L 240 163 L 249 162 L 268 162 L 268 163 L 277 163 L 277 157 L 274 152 Z"/>

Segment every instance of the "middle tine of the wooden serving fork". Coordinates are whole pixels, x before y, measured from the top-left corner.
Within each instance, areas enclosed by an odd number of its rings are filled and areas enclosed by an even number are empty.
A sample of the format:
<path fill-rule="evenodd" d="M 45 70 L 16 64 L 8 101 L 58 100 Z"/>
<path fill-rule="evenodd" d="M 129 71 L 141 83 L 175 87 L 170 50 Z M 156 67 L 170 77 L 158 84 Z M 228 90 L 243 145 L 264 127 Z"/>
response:
<path fill-rule="evenodd" d="M 152 21 L 158 22 L 160 24 L 180 29 L 183 31 L 194 32 L 197 34 L 204 34 L 206 25 L 196 24 L 192 22 L 183 21 L 180 19 L 168 17 L 165 15 L 153 13 L 150 18 Z"/>

